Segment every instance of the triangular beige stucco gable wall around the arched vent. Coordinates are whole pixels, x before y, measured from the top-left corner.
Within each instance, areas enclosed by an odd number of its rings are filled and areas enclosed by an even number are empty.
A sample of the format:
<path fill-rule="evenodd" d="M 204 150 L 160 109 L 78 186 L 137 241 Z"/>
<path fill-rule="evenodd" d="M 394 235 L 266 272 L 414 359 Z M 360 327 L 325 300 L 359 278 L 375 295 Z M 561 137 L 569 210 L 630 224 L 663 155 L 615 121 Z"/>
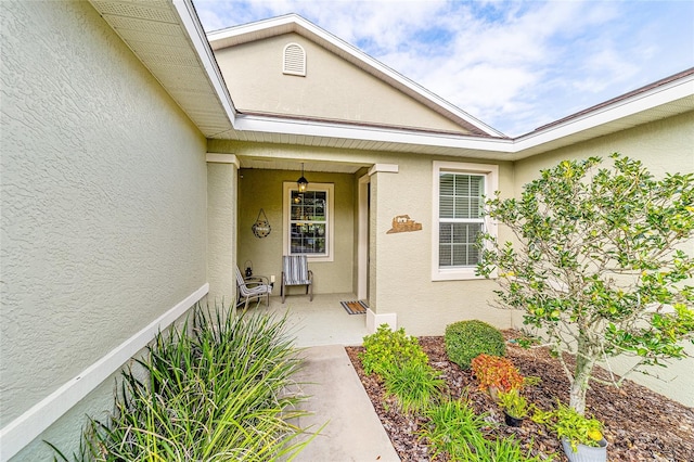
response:
<path fill-rule="evenodd" d="M 292 42 L 306 51 L 306 77 L 282 74 Z M 297 34 L 216 50 L 215 57 L 241 112 L 467 132 Z"/>

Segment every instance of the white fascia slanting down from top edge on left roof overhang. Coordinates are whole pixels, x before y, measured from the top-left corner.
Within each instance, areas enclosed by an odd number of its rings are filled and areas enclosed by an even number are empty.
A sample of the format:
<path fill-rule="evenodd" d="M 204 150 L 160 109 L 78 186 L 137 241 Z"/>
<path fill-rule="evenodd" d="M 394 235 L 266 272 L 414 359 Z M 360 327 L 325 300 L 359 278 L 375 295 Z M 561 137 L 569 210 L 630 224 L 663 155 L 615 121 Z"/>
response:
<path fill-rule="evenodd" d="M 217 61 L 215 60 L 209 42 L 207 41 L 205 30 L 197 18 L 195 8 L 191 0 L 172 0 L 172 2 L 174 8 L 176 8 L 176 12 L 181 18 L 181 23 L 195 48 L 195 52 L 207 73 L 207 77 L 217 92 L 217 98 L 219 98 L 219 101 L 224 107 L 227 116 L 233 126 L 236 118 L 236 108 L 234 107 L 229 90 L 224 85 L 224 79 L 221 76 L 221 70 L 217 65 Z"/>

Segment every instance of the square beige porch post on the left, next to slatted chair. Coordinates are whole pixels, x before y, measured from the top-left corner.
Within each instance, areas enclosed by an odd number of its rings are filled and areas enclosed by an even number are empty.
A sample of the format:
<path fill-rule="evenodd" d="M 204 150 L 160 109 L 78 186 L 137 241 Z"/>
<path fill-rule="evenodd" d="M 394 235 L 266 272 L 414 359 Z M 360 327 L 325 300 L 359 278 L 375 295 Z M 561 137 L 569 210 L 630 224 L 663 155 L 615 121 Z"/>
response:
<path fill-rule="evenodd" d="M 231 306 L 236 297 L 236 202 L 239 159 L 207 154 L 207 282 L 210 306 Z"/>

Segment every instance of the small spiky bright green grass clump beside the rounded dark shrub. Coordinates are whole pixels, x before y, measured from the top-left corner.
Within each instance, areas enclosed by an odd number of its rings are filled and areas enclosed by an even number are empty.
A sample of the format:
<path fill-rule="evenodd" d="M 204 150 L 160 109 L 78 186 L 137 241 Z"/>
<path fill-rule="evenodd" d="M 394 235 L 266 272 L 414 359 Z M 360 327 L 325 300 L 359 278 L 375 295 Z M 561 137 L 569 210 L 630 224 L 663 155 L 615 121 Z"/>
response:
<path fill-rule="evenodd" d="M 419 412 L 439 397 L 445 384 L 440 375 L 428 364 L 407 362 L 385 373 L 386 393 L 398 399 L 403 412 Z"/>

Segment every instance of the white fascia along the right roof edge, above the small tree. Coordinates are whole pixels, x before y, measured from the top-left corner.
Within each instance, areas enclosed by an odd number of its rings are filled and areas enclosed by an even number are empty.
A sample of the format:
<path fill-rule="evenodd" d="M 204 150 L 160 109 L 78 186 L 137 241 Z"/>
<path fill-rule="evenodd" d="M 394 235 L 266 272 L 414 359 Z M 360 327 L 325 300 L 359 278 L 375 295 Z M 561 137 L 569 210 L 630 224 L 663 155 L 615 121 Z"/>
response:
<path fill-rule="evenodd" d="M 513 152 L 522 153 L 527 149 L 589 130 L 692 94 L 694 94 L 694 76 L 689 76 L 683 80 L 677 80 L 669 85 L 656 87 L 647 92 L 634 94 L 626 100 L 617 101 L 608 106 L 587 113 L 581 117 L 550 127 L 547 130 L 516 138 Z"/>

